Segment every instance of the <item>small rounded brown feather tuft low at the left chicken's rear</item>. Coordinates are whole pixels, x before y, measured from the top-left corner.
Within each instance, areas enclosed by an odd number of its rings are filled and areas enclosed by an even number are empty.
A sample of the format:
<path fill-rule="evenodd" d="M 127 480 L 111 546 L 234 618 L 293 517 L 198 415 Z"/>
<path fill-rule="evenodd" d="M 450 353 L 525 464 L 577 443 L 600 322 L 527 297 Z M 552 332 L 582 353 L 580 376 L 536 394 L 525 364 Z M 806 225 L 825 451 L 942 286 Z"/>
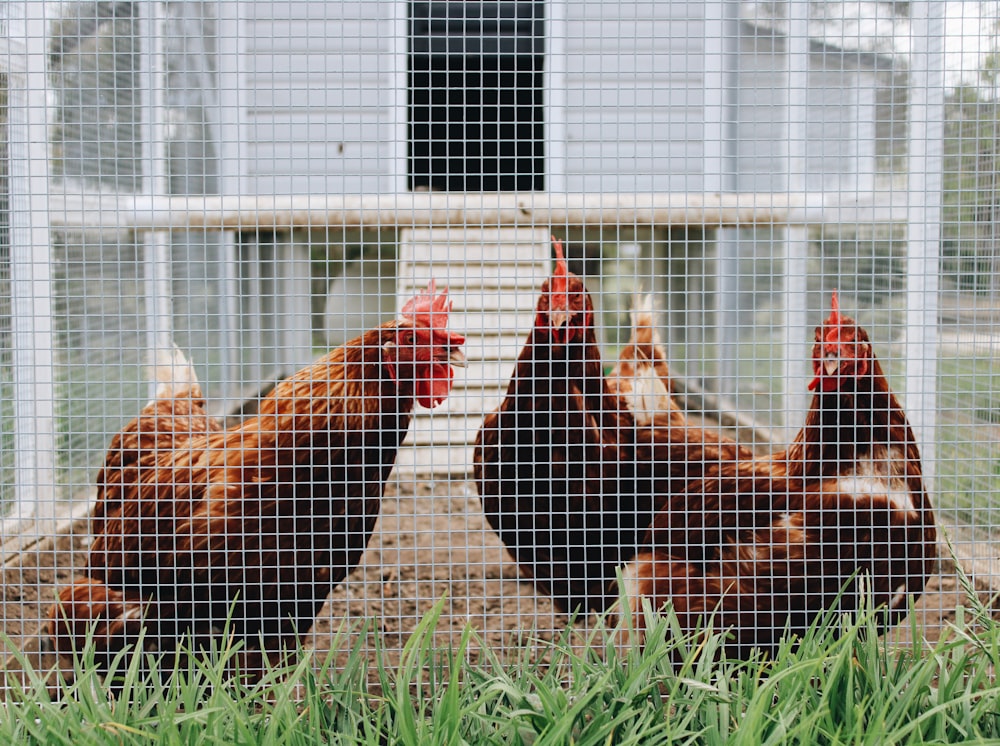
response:
<path fill-rule="evenodd" d="M 116 654 L 140 640 L 147 605 L 97 580 L 81 580 L 59 592 L 48 633 L 64 656 L 78 655 L 92 641 L 95 662 L 107 668 Z"/>

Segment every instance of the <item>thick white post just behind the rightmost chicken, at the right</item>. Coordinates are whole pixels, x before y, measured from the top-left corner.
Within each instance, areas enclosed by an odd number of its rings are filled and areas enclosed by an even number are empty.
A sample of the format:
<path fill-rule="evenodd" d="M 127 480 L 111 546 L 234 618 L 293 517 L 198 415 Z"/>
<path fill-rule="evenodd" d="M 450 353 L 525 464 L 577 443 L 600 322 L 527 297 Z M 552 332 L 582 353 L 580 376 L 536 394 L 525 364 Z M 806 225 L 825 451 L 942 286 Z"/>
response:
<path fill-rule="evenodd" d="M 944 3 L 911 7 L 904 405 L 933 478 L 944 145 Z M 928 486 L 932 486 L 929 483 Z"/>

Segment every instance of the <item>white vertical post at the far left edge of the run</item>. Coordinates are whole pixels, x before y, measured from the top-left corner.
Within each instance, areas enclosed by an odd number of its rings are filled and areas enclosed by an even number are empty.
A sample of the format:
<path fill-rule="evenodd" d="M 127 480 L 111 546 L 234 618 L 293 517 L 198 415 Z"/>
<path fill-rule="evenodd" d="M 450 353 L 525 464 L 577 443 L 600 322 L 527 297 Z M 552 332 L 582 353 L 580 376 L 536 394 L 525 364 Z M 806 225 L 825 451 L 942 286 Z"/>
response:
<path fill-rule="evenodd" d="M 10 21 L 24 40 L 24 69 L 11 71 L 10 272 L 13 330 L 15 520 L 54 516 L 57 497 L 55 348 L 49 232 L 49 106 L 44 2 Z"/>

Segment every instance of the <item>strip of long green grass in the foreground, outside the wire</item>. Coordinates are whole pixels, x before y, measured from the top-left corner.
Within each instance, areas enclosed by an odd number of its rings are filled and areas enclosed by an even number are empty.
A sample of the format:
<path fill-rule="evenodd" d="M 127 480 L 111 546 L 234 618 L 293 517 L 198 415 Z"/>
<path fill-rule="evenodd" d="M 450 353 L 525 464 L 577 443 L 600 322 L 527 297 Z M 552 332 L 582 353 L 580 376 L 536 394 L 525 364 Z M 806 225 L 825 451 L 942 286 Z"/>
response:
<path fill-rule="evenodd" d="M 970 586 L 971 588 L 971 586 Z M 687 638 L 649 616 L 646 644 L 626 627 L 568 629 L 542 655 L 501 659 L 467 628 L 433 645 L 443 604 L 399 663 L 367 635 L 318 667 L 309 655 L 256 685 L 229 675 L 234 648 L 168 661 L 122 655 L 120 690 L 91 671 L 54 700 L 40 672 L 0 709 L 16 744 L 906 744 L 1000 739 L 1000 626 L 970 606 L 932 646 L 889 647 L 876 613 L 831 612 L 773 661 L 720 660 L 717 635 Z M 627 625 L 627 620 L 624 623 Z M 355 630 L 356 631 L 356 630 Z M 916 630 L 914 630 L 916 631 Z M 839 632 L 839 634 L 837 634 Z M 580 635 L 586 635 L 581 640 Z M 353 647 L 352 647 L 353 645 Z M 474 654 L 472 651 L 480 651 Z M 536 648 L 537 652 L 537 648 Z M 298 660 L 298 662 L 295 662 Z M 1000 743 L 1000 740 L 995 742 Z"/>

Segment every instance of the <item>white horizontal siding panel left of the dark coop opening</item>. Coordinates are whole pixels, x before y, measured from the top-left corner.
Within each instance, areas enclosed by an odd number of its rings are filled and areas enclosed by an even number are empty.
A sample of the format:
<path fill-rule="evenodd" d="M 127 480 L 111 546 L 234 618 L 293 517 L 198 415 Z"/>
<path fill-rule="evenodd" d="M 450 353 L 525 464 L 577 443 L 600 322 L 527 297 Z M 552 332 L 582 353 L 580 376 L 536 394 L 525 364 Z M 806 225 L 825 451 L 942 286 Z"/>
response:
<path fill-rule="evenodd" d="M 248 4 L 243 69 L 247 188 L 392 191 L 393 2 Z"/>

